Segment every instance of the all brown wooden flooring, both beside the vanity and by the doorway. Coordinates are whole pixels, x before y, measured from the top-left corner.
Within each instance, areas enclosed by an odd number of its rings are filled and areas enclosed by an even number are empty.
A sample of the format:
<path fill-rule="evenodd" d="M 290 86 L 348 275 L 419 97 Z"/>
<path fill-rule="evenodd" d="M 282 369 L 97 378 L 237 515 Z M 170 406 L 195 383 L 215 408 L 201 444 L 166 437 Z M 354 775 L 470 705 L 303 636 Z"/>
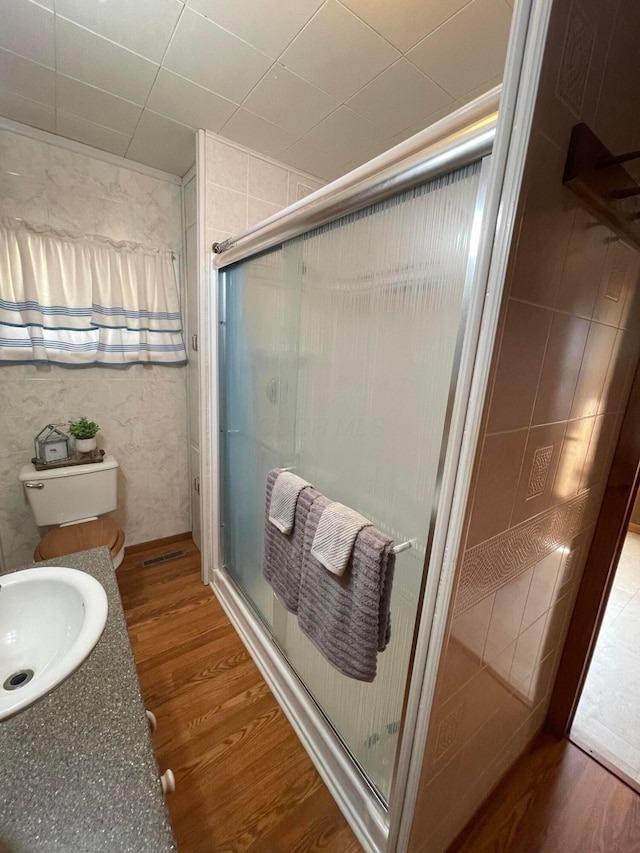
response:
<path fill-rule="evenodd" d="M 186 556 L 149 568 L 142 560 Z M 356 853 L 347 826 L 209 587 L 190 540 L 118 569 L 180 853 Z M 455 853 L 640 853 L 640 796 L 568 741 L 541 735 Z"/>

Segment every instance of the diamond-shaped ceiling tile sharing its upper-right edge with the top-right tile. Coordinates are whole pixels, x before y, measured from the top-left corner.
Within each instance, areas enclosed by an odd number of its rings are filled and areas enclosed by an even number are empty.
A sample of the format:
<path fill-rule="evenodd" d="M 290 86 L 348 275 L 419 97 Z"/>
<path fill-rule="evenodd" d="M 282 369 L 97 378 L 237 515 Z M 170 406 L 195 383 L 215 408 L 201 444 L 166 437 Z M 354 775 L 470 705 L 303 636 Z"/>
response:
<path fill-rule="evenodd" d="M 354 95 L 347 106 L 392 136 L 452 101 L 415 66 L 401 59 Z"/>

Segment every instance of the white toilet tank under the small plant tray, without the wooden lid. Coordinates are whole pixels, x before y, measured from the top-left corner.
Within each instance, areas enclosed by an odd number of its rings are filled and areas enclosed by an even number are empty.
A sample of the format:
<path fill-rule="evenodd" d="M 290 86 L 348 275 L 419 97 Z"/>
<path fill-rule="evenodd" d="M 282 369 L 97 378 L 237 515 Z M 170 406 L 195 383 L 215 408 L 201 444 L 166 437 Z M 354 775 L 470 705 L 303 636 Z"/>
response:
<path fill-rule="evenodd" d="M 39 527 L 80 521 L 111 512 L 117 505 L 118 463 L 113 456 L 89 465 L 36 471 L 23 465 L 18 474 Z"/>

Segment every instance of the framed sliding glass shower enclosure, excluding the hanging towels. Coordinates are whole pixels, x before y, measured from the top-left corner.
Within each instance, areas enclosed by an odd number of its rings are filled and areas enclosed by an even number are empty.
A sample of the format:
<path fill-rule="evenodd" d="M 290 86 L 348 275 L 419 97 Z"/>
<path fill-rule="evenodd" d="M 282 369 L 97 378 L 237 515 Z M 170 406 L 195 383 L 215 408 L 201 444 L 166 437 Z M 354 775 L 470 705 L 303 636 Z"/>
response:
<path fill-rule="evenodd" d="M 464 408 L 461 363 L 477 340 L 475 261 L 496 103 L 494 92 L 439 145 L 421 134 L 351 186 L 320 190 L 217 247 L 214 587 L 329 787 L 351 786 L 346 799 L 370 849 L 388 829 L 416 626 L 459 451 L 452 419 Z M 372 683 L 333 669 L 263 578 L 275 467 L 404 544 L 391 642 Z"/>

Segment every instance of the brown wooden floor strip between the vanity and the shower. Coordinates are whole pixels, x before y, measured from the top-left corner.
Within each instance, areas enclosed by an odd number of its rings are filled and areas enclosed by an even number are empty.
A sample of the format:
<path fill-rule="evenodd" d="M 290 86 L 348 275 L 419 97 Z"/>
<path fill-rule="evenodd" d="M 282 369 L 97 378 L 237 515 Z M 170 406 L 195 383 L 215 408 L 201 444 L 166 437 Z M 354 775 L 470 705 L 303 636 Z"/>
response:
<path fill-rule="evenodd" d="M 186 556 L 145 568 L 169 551 Z M 356 853 L 361 847 L 209 587 L 190 540 L 118 569 L 180 853 Z"/>

